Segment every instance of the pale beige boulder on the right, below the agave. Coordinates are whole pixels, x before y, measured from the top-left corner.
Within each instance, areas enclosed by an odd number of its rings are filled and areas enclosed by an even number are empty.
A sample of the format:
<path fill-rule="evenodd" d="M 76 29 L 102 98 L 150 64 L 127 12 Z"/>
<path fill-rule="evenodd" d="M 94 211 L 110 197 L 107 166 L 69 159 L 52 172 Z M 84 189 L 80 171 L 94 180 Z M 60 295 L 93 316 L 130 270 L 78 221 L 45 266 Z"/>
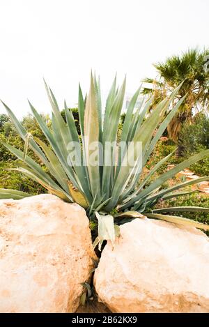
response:
<path fill-rule="evenodd" d="M 206 234 L 145 218 L 105 246 L 94 284 L 112 312 L 209 312 L 208 280 Z"/>

